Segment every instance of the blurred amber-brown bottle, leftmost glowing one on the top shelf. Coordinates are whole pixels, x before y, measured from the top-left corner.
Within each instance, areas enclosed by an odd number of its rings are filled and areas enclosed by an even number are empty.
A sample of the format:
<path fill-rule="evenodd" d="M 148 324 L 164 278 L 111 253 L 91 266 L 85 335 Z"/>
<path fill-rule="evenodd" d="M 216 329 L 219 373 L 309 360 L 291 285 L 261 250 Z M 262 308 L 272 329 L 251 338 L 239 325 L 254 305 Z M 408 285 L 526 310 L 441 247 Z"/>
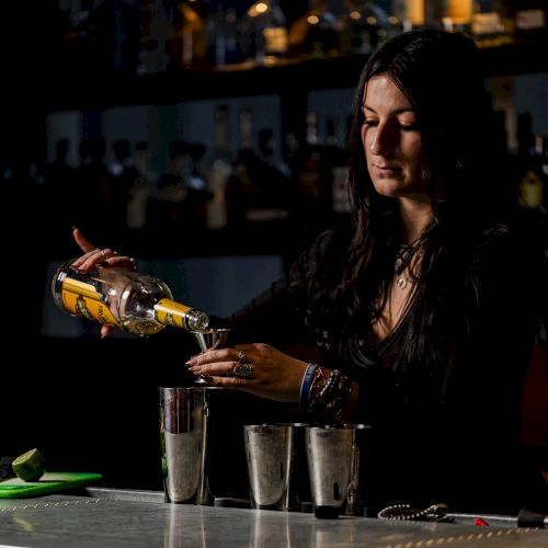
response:
<path fill-rule="evenodd" d="M 168 69 L 187 70 L 206 62 L 206 22 L 197 0 L 175 1 L 170 9 L 170 35 L 165 42 Z M 202 10 L 203 11 L 203 10 Z"/>

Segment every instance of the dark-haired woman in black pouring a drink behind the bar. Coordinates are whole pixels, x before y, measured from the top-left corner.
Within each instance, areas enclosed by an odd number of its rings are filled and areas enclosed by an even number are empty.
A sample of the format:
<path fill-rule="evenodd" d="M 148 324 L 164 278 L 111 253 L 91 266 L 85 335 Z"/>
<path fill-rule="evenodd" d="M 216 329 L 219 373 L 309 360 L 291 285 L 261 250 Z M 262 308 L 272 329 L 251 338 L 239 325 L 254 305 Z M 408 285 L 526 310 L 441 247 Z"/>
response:
<path fill-rule="evenodd" d="M 309 421 L 370 424 L 368 506 L 548 504 L 520 452 L 534 284 L 492 126 L 470 39 L 424 30 L 385 44 L 353 105 L 352 226 L 228 320 L 242 344 L 187 362 Z M 127 261 L 75 236 L 78 267 Z M 305 340 L 319 365 L 282 351 Z"/>

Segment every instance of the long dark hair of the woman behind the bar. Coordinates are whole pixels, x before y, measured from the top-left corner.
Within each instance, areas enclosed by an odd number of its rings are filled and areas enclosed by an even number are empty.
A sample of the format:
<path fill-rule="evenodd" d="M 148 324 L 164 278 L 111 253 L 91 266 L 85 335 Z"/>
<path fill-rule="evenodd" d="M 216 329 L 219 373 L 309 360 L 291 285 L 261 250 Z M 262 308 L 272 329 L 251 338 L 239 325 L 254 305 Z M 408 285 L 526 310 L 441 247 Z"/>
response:
<path fill-rule="evenodd" d="M 434 224 L 422 236 L 424 252 L 414 306 L 400 356 L 402 367 L 420 358 L 426 367 L 446 347 L 434 324 L 438 311 L 455 300 L 455 281 L 475 239 L 510 212 L 503 183 L 504 151 L 495 150 L 494 115 L 475 43 L 460 34 L 435 30 L 403 33 L 377 49 L 361 76 L 349 129 L 353 238 L 338 295 L 353 332 L 370 329 L 386 304 L 400 246 L 397 201 L 379 195 L 367 171 L 361 137 L 367 82 L 387 75 L 413 107 L 421 130 L 423 178 L 427 181 Z M 436 289 L 433 292 L 432 288 Z M 353 328 L 354 326 L 354 328 Z M 359 361 L 359 350 L 346 349 Z"/>

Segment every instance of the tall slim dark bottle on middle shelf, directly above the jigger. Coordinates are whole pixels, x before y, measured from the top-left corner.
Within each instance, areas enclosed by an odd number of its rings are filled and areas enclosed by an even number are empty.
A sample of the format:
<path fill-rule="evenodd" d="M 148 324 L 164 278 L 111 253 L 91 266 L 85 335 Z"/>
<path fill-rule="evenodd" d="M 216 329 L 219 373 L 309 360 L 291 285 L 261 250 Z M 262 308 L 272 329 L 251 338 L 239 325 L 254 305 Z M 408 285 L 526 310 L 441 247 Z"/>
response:
<path fill-rule="evenodd" d="M 227 183 L 232 173 L 232 152 L 229 141 L 230 112 L 226 104 L 215 109 L 214 148 L 205 160 L 204 178 L 212 198 L 206 204 L 206 227 L 227 226 Z"/>

